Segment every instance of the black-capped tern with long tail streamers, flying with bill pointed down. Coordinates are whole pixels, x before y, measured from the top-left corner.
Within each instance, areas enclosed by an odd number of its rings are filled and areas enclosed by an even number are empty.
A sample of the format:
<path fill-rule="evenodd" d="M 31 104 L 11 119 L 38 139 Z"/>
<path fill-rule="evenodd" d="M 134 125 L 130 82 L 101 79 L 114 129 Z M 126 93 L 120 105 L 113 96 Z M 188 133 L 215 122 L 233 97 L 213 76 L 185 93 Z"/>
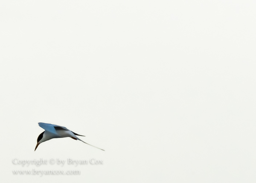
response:
<path fill-rule="evenodd" d="M 35 146 L 35 150 L 38 147 L 38 145 L 41 144 L 42 142 L 45 142 L 47 140 L 54 139 L 54 138 L 71 137 L 72 139 L 82 141 L 81 139 L 76 137 L 76 135 L 78 135 L 78 136 L 83 136 L 83 135 L 76 134 L 73 131 L 70 131 L 69 129 L 67 129 L 66 127 L 52 125 L 52 124 L 43 123 L 43 122 L 39 122 L 38 125 L 41 128 L 44 128 L 45 131 L 38 136 L 37 145 Z M 83 137 L 85 137 L 85 136 L 83 136 Z M 84 142 L 84 141 L 82 141 L 82 142 Z M 84 142 L 84 143 L 86 143 L 86 142 Z M 86 144 L 88 144 L 88 143 L 86 143 Z M 90 145 L 90 144 L 88 144 L 88 145 Z M 91 146 L 93 146 L 93 145 L 91 145 Z M 93 146 L 93 147 L 95 147 L 95 146 Z M 97 147 L 95 147 L 95 148 L 97 148 Z M 98 148 L 98 149 L 105 151 L 101 148 Z"/>

